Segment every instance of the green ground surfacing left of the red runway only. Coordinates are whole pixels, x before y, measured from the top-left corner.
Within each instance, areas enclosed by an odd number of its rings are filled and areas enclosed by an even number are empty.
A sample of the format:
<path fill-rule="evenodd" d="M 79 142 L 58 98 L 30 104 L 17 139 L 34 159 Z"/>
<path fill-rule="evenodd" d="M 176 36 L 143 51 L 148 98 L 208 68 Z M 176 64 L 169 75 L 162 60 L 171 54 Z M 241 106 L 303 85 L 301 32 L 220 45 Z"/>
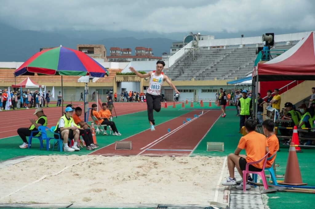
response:
<path fill-rule="evenodd" d="M 162 108 L 160 112 L 154 112 L 154 120 L 156 125 L 161 124 L 165 121 L 169 121 L 175 117 L 186 114 L 189 111 L 179 111 L 179 105 L 176 105 L 176 108 Z M 107 146 L 109 144 L 114 143 L 117 140 L 122 140 L 124 138 L 130 137 L 134 134 L 137 134 L 141 131 L 145 131 L 150 128 L 148 119 L 147 119 L 147 111 L 141 111 L 137 113 L 132 113 L 128 115 L 121 115 L 117 118 L 113 118 L 118 131 L 122 134 L 122 136 L 103 136 L 97 134 L 97 143 L 100 147 Z M 56 121 L 57 123 L 57 121 Z M 52 135 L 50 137 L 53 137 Z M 28 140 L 28 138 L 27 138 Z M 53 139 L 51 139 L 51 144 Z M 73 153 L 65 153 L 57 151 L 55 147 L 54 151 L 51 150 L 46 151 L 46 148 L 39 149 L 39 140 L 36 138 L 32 139 L 32 145 L 30 149 L 21 149 L 19 145 L 22 144 L 22 140 L 19 136 L 8 137 L 4 139 L 0 139 L 0 161 L 7 160 L 10 158 L 18 157 L 18 156 L 27 156 L 27 155 L 71 155 L 71 154 L 79 154 L 85 155 L 89 154 L 92 151 L 81 149 L 79 152 Z M 44 145 L 45 147 L 45 145 Z"/>

